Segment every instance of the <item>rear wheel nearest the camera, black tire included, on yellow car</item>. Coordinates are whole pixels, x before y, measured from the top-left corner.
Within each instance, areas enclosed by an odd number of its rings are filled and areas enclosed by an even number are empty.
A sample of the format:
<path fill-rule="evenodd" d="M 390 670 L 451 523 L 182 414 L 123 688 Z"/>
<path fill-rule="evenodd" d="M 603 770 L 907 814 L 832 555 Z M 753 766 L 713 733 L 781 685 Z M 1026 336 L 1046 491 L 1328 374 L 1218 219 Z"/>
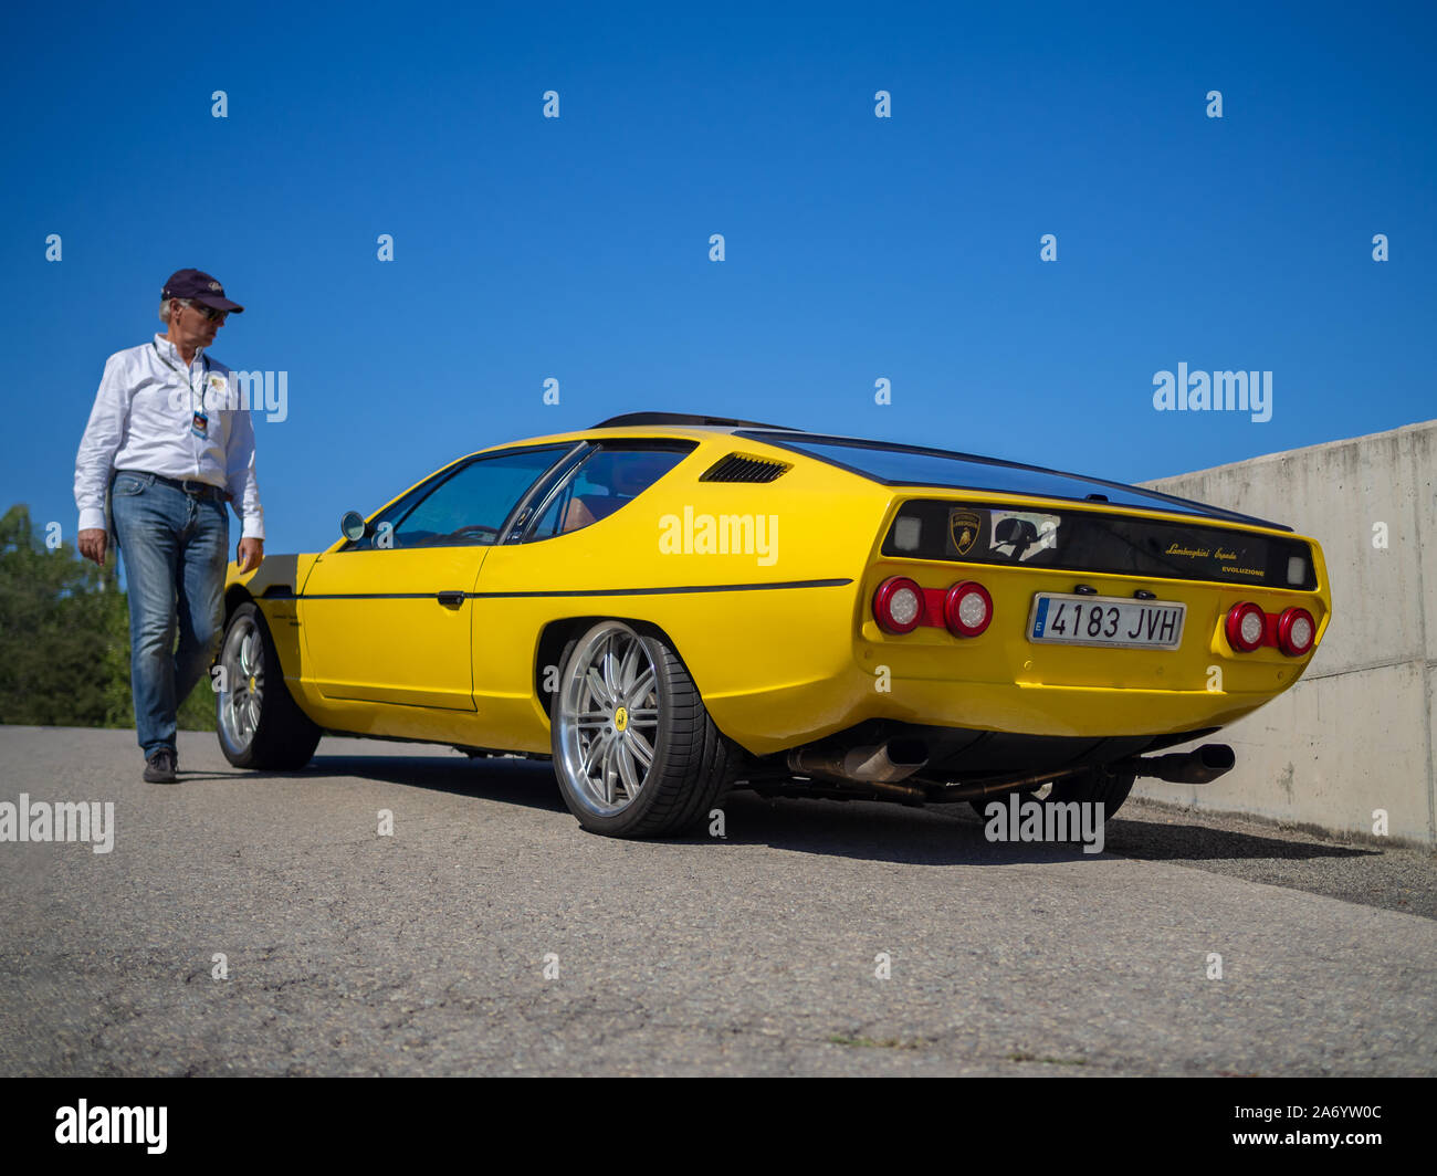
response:
<path fill-rule="evenodd" d="M 608 837 L 674 837 L 704 821 L 740 756 L 673 647 L 599 621 L 559 664 L 553 769 L 579 824 Z"/>

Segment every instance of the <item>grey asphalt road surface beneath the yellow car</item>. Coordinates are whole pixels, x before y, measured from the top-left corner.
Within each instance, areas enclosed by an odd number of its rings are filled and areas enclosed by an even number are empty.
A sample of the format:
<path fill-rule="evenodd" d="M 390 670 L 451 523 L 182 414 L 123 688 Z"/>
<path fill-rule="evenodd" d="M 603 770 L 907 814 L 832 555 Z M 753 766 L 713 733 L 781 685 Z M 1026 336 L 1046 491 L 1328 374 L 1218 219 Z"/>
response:
<path fill-rule="evenodd" d="M 0 727 L 0 802 L 115 804 L 108 854 L 0 844 L 0 1072 L 1437 1072 L 1418 850 L 1129 802 L 1088 855 L 752 794 L 726 840 L 624 842 L 545 765 L 180 761 L 147 785 L 132 732 Z"/>

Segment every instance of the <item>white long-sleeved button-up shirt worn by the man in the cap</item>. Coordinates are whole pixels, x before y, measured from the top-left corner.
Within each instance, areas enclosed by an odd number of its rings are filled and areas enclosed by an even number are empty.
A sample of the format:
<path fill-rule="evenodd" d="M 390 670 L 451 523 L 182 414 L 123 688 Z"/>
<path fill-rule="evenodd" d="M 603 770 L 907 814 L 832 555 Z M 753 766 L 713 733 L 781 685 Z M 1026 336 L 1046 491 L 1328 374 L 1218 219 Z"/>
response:
<path fill-rule="evenodd" d="M 191 430 L 203 405 L 204 437 Z M 264 509 L 254 480 L 254 423 L 230 377 L 203 349 L 185 368 L 164 335 L 116 351 L 105 361 L 95 407 L 75 457 L 75 505 L 80 530 L 105 529 L 105 492 L 114 470 L 207 482 L 228 492 L 241 538 L 264 538 Z"/>

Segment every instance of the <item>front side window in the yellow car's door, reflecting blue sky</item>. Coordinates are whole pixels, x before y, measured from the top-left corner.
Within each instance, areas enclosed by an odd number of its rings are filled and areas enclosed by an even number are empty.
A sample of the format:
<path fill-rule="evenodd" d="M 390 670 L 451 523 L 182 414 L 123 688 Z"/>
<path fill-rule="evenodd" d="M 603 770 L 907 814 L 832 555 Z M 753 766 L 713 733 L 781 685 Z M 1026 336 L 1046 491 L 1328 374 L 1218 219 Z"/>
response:
<path fill-rule="evenodd" d="M 514 503 L 570 446 L 539 446 L 479 457 L 415 502 L 401 502 L 371 523 L 372 533 L 351 549 L 486 546 Z"/>

